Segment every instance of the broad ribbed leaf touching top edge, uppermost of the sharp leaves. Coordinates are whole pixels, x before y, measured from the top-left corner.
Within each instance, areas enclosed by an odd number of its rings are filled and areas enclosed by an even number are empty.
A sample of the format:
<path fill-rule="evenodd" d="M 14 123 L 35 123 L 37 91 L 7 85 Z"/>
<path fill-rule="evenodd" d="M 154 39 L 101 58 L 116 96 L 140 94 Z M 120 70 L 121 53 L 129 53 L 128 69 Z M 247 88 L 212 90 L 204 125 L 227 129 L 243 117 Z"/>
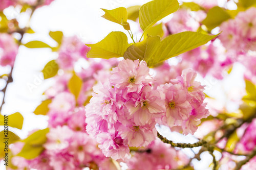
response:
<path fill-rule="evenodd" d="M 144 4 L 139 10 L 139 22 L 143 31 L 157 21 L 179 9 L 177 0 L 154 0 Z"/>

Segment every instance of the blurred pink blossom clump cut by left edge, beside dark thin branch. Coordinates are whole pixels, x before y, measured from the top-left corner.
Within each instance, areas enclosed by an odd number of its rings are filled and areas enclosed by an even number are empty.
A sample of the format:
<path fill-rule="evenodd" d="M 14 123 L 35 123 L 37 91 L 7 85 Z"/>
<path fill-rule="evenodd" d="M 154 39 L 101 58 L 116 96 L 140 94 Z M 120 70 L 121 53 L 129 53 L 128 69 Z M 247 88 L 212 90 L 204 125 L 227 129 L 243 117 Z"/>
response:
<path fill-rule="evenodd" d="M 18 44 L 13 37 L 6 33 L 0 34 L 0 65 L 13 66 L 18 53 Z"/>

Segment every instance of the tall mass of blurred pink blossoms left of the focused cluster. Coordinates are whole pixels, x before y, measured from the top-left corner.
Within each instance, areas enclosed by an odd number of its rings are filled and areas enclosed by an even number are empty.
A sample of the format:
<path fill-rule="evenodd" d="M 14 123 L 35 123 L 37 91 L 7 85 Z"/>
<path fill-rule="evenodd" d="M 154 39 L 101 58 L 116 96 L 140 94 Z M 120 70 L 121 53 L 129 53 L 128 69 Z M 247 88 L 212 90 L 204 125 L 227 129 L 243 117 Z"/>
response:
<path fill-rule="evenodd" d="M 75 60 L 85 59 L 84 55 L 88 51 L 84 51 L 84 49 L 88 47 L 79 46 L 79 43 L 80 40 L 77 37 L 63 38 L 59 53 L 65 51 L 71 56 L 63 62 L 74 63 Z M 71 66 L 61 67 L 62 74 L 54 77 L 56 83 L 45 92 L 48 100 L 51 100 L 47 113 L 50 132 L 46 134 L 47 141 L 43 144 L 45 150 L 38 157 L 28 160 L 15 156 L 22 150 L 25 143 L 14 143 L 12 145 L 14 155 L 12 164 L 18 169 L 81 170 L 84 167 L 89 167 L 99 170 L 117 170 L 119 165 L 114 160 L 105 157 L 93 136 L 86 132 L 84 105 L 89 102 L 93 85 L 108 79 L 110 77 L 109 70 L 116 66 L 118 61 L 111 59 L 96 62 L 87 59 L 87 62 L 90 63 L 90 66 L 81 68 L 81 71 L 76 73 L 82 80 L 82 87 L 77 99 L 68 88 L 68 83 L 73 76 L 70 71 Z M 74 69 L 73 63 L 72 69 Z M 58 64 L 61 65 L 61 63 Z"/>

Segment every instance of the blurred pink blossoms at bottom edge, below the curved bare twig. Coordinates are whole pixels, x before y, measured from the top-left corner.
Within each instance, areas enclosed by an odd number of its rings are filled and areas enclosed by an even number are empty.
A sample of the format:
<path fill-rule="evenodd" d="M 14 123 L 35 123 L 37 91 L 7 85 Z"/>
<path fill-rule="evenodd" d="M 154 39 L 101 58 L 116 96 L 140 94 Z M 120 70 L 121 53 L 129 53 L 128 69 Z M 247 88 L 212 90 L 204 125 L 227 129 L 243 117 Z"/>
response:
<path fill-rule="evenodd" d="M 181 151 L 176 151 L 169 144 L 160 139 L 152 141 L 140 152 L 132 153 L 130 159 L 125 160 L 128 169 L 157 170 L 176 169 L 188 163 L 188 157 Z"/>

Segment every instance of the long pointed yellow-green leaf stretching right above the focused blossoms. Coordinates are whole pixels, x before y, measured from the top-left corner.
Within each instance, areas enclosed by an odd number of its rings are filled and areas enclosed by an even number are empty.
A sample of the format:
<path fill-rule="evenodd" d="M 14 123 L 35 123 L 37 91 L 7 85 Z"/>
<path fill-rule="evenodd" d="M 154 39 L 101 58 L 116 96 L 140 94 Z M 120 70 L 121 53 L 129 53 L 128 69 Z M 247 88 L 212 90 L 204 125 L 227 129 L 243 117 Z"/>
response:
<path fill-rule="evenodd" d="M 207 43 L 211 39 L 214 39 L 218 35 L 204 35 L 190 31 L 169 35 L 161 41 L 150 66 L 193 50 L 194 48 Z"/>

